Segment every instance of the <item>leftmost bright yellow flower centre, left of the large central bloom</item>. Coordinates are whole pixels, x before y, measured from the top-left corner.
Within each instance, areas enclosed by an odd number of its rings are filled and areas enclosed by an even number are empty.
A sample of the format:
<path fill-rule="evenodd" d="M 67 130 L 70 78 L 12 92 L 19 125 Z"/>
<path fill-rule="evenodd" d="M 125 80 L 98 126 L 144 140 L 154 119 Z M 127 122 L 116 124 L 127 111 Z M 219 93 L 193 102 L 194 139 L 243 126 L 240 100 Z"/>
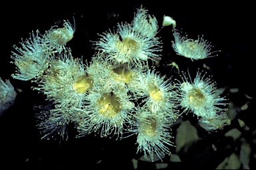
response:
<path fill-rule="evenodd" d="M 85 93 L 91 90 L 93 84 L 92 84 L 92 79 L 89 78 L 89 76 L 84 75 L 80 76 L 77 81 L 73 84 L 73 89 L 77 93 Z"/>

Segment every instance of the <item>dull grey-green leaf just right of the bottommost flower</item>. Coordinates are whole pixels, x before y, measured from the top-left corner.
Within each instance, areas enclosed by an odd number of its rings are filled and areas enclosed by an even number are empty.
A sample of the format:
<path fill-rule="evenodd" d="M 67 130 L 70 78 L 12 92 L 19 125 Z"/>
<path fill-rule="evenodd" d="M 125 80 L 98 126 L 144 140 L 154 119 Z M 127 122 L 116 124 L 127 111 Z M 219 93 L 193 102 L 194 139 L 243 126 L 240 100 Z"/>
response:
<path fill-rule="evenodd" d="M 181 122 L 181 125 L 177 128 L 177 135 L 175 139 L 176 153 L 178 153 L 183 146 L 185 147 L 185 151 L 187 151 L 188 146 L 186 147 L 186 145 L 199 139 L 197 129 L 194 126 L 191 126 L 188 120 Z"/>

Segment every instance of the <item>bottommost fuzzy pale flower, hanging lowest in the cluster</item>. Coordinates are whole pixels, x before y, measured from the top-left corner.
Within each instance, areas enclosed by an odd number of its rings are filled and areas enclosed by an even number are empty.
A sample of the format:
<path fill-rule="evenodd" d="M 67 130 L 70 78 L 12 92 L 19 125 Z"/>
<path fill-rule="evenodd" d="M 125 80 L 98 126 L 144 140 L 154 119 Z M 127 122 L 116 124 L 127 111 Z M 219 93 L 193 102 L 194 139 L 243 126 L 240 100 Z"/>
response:
<path fill-rule="evenodd" d="M 160 159 L 171 154 L 169 146 L 174 145 L 170 141 L 170 126 L 173 120 L 162 114 L 153 114 L 147 108 L 140 108 L 135 118 L 131 132 L 137 134 L 137 153 L 143 151 L 145 159 L 150 157 L 151 161 L 154 154 Z"/>

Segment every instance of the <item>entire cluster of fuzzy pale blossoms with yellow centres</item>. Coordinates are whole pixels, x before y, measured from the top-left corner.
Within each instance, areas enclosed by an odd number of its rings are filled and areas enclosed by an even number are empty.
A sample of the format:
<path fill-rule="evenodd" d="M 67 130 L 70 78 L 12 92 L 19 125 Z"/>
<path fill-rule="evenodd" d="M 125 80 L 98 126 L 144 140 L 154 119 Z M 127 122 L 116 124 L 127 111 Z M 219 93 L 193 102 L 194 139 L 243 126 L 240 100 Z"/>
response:
<path fill-rule="evenodd" d="M 175 21 L 165 19 L 170 23 L 163 25 L 173 24 L 174 29 Z M 14 46 L 17 52 L 11 58 L 17 73 L 13 78 L 35 82 L 33 90 L 49 101 L 36 114 L 42 138 L 67 139 L 71 123 L 79 132 L 77 137 L 137 135 L 137 151 L 153 161 L 154 154 L 161 159 L 174 146 L 171 125 L 181 116 L 178 106 L 199 116 L 203 128 L 222 128 L 225 114 L 217 105 L 223 105 L 225 98 L 219 97 L 222 91 L 209 78 L 198 74 L 194 82 L 183 78 L 174 84 L 150 66 L 149 61 L 159 60 L 157 53 L 162 50 L 158 29 L 157 19 L 140 7 L 131 23 L 118 23 L 116 31 L 99 35 L 89 62 L 74 58 L 66 47 L 75 33 L 69 21 L 44 35 L 32 32 L 21 42 L 22 48 Z M 176 31 L 173 35 L 173 48 L 179 54 L 193 59 L 211 54 L 207 41 L 185 41 Z"/>

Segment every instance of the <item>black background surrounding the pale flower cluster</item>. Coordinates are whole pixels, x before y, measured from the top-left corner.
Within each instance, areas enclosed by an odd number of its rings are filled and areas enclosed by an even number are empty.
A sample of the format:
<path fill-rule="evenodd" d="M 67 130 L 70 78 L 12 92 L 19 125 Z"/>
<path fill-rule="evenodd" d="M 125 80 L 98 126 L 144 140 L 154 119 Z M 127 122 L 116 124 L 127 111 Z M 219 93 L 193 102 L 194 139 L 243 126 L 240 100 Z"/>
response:
<path fill-rule="evenodd" d="M 164 27 L 158 37 L 163 41 L 162 60 L 157 68 L 167 76 L 176 76 L 177 70 L 171 71 L 167 64 L 172 61 L 179 65 L 180 70 L 193 75 L 197 68 L 203 70 L 203 64 L 210 66 L 209 73 L 213 75 L 217 85 L 221 88 L 239 88 L 236 94 L 229 94 L 235 106 L 241 107 L 249 102 L 249 109 L 239 114 L 238 118 L 249 126 L 249 131 L 244 131 L 237 123 L 225 127 L 222 131 L 208 134 L 199 128 L 199 135 L 203 137 L 201 143 L 196 143 L 187 153 L 180 153 L 181 163 L 171 163 L 166 157 L 164 163 L 169 163 L 168 169 L 183 167 L 215 169 L 225 157 L 235 151 L 239 143 L 235 143 L 223 134 L 229 129 L 239 128 L 243 131 L 249 143 L 252 144 L 255 154 L 255 136 L 251 133 L 255 130 L 253 116 L 255 115 L 255 9 L 253 3 L 241 1 L 240 3 L 186 3 L 154 1 L 91 1 L 89 3 L 61 2 L 59 5 L 41 3 L 12 3 L 6 5 L 6 11 L 2 13 L 2 35 L 0 76 L 3 80 L 10 79 L 15 89 L 22 89 L 18 93 L 15 105 L 9 108 L 0 118 L 1 145 L 3 159 L 1 165 L 5 169 L 133 169 L 131 159 L 138 159 L 142 154 L 135 154 L 135 137 L 129 137 L 121 141 L 101 138 L 94 134 L 81 139 L 75 138 L 75 130 L 69 128 L 69 139 L 59 143 L 56 140 L 41 140 L 41 135 L 35 127 L 35 104 L 42 104 L 44 98 L 41 94 L 31 90 L 31 82 L 15 80 L 11 78 L 15 65 L 10 64 L 13 44 L 19 44 L 21 38 L 29 38 L 29 33 L 39 29 L 44 33 L 55 22 L 68 19 L 73 24 L 75 17 L 76 32 L 72 41 L 67 43 L 75 57 L 90 60 L 94 54 L 90 41 L 97 41 L 98 35 L 108 29 L 113 31 L 117 23 L 131 23 L 135 8 L 143 5 L 150 15 L 155 15 L 159 21 L 159 28 L 163 15 L 173 17 L 177 22 L 177 29 L 183 29 L 189 38 L 197 39 L 203 35 L 214 45 L 213 50 L 221 50 L 218 56 L 205 58 L 192 62 L 190 58 L 175 55 L 171 47 L 173 35 L 170 27 Z M 5 8 L 3 7 L 3 9 Z M 61 26 L 62 23 L 59 24 Z M 8 45 L 8 47 L 7 47 Z M 7 50 L 8 49 L 8 50 Z M 193 73 L 194 72 L 194 73 Z M 245 94 L 252 99 L 245 97 Z M 193 121 L 192 121 L 193 124 Z M 175 131 L 176 126 L 173 126 Z M 174 134 L 175 135 L 175 132 Z M 207 146 L 211 143 L 219 143 L 219 151 L 215 154 L 208 153 Z M 216 144 L 215 143 L 215 144 Z M 227 149 L 227 145 L 231 148 Z M 172 152 L 175 149 L 170 148 Z M 251 156 L 253 157 L 253 155 Z M 96 163 L 101 160 L 101 163 Z M 160 161 L 161 162 L 161 161 Z M 251 159 L 251 169 L 255 168 L 255 159 Z M 140 161 L 138 169 L 153 169 L 154 163 Z M 242 168 L 242 167 L 241 167 Z M 2 169 L 2 168 L 1 168 Z"/>

